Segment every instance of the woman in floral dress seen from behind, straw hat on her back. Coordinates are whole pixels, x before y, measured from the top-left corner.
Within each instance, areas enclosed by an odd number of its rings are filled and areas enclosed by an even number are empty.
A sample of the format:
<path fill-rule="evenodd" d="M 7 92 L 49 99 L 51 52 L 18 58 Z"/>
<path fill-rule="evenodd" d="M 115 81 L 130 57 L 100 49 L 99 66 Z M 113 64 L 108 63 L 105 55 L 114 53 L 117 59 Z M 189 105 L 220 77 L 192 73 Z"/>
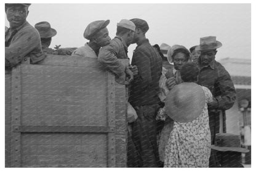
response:
<path fill-rule="evenodd" d="M 174 127 L 165 147 L 164 167 L 209 167 L 207 103 L 212 101 L 212 93 L 196 84 L 196 63 L 183 65 L 180 74 L 183 82 L 175 85 L 166 99 L 166 114 L 174 120 Z"/>

